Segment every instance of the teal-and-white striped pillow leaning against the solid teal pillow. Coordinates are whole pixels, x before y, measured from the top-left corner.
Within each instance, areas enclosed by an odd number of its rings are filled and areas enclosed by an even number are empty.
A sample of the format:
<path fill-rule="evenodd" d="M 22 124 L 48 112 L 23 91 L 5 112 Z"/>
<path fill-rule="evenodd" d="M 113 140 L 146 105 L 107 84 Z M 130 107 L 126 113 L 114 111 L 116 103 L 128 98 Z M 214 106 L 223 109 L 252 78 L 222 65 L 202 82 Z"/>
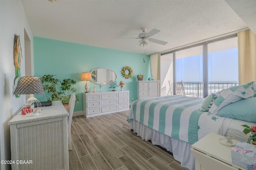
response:
<path fill-rule="evenodd" d="M 209 109 L 208 114 L 216 115 L 218 111 L 230 104 L 237 102 L 241 99 L 251 98 L 256 94 L 256 82 L 248 82 L 244 85 L 233 86 L 224 90 L 218 98 L 212 104 L 212 107 Z"/>

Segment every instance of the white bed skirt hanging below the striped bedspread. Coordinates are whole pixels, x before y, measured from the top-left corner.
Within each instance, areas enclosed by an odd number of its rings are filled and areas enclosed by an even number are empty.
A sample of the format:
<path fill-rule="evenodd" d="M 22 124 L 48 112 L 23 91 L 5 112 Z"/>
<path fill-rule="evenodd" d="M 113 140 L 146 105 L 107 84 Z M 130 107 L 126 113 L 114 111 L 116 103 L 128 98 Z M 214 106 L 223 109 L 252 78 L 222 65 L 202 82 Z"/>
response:
<path fill-rule="evenodd" d="M 153 145 L 159 145 L 172 152 L 174 158 L 181 162 L 181 166 L 190 170 L 195 169 L 195 158 L 190 152 L 192 144 L 158 133 L 133 119 L 130 119 L 130 129 L 142 137 L 142 140 L 150 140 Z"/>

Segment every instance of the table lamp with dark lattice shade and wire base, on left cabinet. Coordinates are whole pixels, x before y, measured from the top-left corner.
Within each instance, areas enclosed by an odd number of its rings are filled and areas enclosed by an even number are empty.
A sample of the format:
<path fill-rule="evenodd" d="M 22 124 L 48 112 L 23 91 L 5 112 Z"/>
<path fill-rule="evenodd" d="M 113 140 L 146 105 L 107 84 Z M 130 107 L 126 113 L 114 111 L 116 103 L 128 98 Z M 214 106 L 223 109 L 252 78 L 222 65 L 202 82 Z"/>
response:
<path fill-rule="evenodd" d="M 26 117 L 39 115 L 41 112 L 41 103 L 34 97 L 34 94 L 44 94 L 40 77 L 20 77 L 13 94 L 30 94 L 30 98 L 26 100 L 25 105 L 22 107 L 22 112 L 26 114 Z M 36 109 L 34 109 L 34 102 L 37 104 Z"/>

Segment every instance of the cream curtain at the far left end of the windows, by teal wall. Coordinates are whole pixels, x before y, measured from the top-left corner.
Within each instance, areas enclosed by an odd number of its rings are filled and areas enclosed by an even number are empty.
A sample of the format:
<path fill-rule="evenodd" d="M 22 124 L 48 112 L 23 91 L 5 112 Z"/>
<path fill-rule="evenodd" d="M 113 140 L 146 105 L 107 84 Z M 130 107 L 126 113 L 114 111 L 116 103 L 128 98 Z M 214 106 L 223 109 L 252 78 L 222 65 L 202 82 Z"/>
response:
<path fill-rule="evenodd" d="M 154 80 L 160 80 L 160 53 L 150 55 L 151 76 Z"/>

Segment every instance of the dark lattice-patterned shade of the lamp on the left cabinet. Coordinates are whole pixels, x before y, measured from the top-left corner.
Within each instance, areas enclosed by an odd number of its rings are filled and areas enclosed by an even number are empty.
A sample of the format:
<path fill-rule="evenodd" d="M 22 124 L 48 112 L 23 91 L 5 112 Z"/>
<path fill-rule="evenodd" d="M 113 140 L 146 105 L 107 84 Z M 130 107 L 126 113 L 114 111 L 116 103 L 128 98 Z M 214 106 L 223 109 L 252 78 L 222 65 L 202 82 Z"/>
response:
<path fill-rule="evenodd" d="M 20 77 L 13 94 L 44 94 L 40 77 Z"/>

